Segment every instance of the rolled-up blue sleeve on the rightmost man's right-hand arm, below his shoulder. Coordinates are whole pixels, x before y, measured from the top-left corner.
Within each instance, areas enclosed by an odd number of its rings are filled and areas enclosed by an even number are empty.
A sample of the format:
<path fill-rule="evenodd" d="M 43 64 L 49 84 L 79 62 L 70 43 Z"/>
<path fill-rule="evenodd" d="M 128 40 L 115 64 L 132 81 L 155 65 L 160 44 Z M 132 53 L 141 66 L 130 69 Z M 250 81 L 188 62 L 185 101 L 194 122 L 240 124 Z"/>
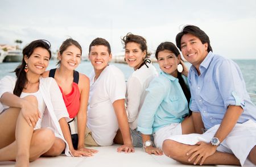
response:
<path fill-rule="evenodd" d="M 222 61 L 216 68 L 215 76 L 225 108 L 228 108 L 229 105 L 244 108 L 243 89 L 245 89 L 245 82 L 237 64 L 232 60 Z"/>

